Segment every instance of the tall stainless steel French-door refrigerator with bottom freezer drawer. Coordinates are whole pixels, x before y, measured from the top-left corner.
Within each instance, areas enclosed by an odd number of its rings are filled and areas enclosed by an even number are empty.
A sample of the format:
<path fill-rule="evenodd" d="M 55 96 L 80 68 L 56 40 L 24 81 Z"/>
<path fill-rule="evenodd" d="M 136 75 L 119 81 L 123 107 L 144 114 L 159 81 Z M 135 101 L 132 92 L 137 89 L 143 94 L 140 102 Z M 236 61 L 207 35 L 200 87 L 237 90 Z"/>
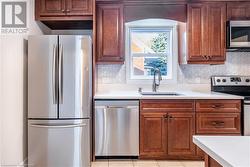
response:
<path fill-rule="evenodd" d="M 28 164 L 90 166 L 90 36 L 28 38 Z"/>

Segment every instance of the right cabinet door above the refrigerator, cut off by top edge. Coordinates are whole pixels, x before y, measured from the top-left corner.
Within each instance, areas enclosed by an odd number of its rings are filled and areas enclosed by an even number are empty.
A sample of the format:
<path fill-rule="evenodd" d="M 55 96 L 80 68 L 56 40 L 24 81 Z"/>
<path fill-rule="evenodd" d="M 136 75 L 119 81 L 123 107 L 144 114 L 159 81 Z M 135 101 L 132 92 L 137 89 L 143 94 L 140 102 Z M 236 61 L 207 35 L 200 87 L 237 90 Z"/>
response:
<path fill-rule="evenodd" d="M 66 12 L 74 16 L 92 15 L 92 6 L 92 0 L 68 0 Z"/>

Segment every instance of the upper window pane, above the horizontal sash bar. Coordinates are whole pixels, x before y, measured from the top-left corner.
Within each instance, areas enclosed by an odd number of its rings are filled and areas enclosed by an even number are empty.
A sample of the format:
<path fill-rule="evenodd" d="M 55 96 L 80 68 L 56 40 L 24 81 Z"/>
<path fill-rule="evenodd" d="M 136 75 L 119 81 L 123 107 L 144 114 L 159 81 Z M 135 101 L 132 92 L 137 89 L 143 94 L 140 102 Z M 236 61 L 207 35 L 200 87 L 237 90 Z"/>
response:
<path fill-rule="evenodd" d="M 131 31 L 132 53 L 169 53 L 170 30 L 133 29 Z"/>

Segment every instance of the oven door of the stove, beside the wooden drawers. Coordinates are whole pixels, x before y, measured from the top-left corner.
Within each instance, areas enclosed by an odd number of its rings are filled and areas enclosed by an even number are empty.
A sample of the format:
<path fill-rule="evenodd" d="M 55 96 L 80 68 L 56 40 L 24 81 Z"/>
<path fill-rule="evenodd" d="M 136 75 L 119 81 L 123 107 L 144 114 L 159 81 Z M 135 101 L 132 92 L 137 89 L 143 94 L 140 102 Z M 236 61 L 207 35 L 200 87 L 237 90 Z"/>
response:
<path fill-rule="evenodd" d="M 244 101 L 244 136 L 250 136 L 250 100 Z"/>

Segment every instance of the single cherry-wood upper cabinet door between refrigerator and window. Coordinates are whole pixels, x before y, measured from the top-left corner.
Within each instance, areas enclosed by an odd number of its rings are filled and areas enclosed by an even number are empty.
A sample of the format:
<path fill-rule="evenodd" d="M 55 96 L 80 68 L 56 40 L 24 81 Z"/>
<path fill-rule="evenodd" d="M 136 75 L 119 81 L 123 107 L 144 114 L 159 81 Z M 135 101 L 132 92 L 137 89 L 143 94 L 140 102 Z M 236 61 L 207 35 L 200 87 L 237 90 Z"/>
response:
<path fill-rule="evenodd" d="M 123 5 L 97 4 L 97 63 L 123 63 Z"/>

